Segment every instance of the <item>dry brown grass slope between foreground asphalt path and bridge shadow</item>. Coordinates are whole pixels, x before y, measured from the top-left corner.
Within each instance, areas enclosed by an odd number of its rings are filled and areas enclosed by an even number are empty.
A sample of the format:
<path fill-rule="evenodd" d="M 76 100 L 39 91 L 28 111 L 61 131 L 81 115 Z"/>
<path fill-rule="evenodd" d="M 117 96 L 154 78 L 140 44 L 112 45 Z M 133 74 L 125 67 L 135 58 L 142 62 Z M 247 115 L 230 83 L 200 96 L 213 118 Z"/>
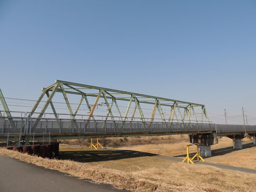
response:
<path fill-rule="evenodd" d="M 79 163 L 43 159 L 6 149 L 0 149 L 0 154 L 132 191 L 256 191 L 255 174 L 175 163 L 155 157 Z"/>

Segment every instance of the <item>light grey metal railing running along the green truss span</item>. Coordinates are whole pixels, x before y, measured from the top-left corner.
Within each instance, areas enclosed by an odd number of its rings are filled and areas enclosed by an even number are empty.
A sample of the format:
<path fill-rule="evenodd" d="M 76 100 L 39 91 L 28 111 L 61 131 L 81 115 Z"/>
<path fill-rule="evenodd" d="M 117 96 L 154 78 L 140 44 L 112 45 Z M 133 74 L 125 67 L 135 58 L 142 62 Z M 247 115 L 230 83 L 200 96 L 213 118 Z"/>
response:
<path fill-rule="evenodd" d="M 104 121 L 85 119 L 55 119 L 32 117 L 0 118 L 0 134 L 42 133 L 141 133 L 215 131 L 215 124 Z"/>

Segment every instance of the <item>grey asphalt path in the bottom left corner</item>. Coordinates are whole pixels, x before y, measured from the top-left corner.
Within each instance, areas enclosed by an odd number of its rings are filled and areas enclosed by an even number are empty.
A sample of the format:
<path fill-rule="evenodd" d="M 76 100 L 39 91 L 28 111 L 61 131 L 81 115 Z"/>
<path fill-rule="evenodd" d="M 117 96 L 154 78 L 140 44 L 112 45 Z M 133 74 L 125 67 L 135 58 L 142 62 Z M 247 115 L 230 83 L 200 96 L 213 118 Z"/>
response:
<path fill-rule="evenodd" d="M 105 184 L 94 184 L 64 173 L 0 155 L 0 191 L 4 192 L 108 192 L 126 191 Z"/>

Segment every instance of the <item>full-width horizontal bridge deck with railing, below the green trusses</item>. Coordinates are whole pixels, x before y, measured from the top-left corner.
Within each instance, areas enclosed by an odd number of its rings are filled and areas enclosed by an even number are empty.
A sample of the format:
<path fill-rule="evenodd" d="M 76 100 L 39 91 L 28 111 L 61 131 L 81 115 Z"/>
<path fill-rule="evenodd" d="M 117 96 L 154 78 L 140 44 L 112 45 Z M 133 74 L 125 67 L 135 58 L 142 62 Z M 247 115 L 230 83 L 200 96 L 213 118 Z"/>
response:
<path fill-rule="evenodd" d="M 141 121 L 103 121 L 86 119 L 55 119 L 32 117 L 0 118 L 0 141 L 17 140 L 18 135 L 42 139 L 127 137 L 137 135 L 166 135 L 216 133 L 217 135 L 256 133 L 256 125 L 223 125 Z M 35 136 L 34 136 L 35 135 Z"/>

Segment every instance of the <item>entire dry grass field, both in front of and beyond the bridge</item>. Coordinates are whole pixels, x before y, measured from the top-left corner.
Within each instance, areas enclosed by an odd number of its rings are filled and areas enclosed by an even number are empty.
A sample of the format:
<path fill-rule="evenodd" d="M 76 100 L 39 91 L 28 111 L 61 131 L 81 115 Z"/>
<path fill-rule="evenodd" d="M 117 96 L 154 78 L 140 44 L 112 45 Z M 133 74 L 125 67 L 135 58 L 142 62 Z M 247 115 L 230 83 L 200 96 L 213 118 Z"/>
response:
<path fill-rule="evenodd" d="M 206 165 L 177 163 L 154 155 L 185 154 L 186 145 L 189 143 L 188 135 L 100 139 L 100 142 L 105 143 L 108 148 L 118 149 L 114 151 L 87 150 L 86 147 L 69 146 L 87 146 L 87 142 L 87 140 L 65 141 L 68 145 L 60 146 L 60 158 L 63 160 L 43 159 L 6 149 L 0 149 L 0 154 L 79 178 L 91 179 L 92 182 L 110 183 L 116 188 L 131 191 L 256 191 L 256 174 Z M 232 145 L 231 139 L 220 138 L 219 143 L 213 145 L 212 149 L 214 151 L 224 148 L 224 153 L 205 158 L 206 162 L 256 169 L 256 147 L 230 150 Z M 229 148 L 226 149 L 227 147 Z M 119 149 L 129 150 L 129 153 L 122 153 Z M 190 148 L 190 152 L 195 152 L 195 146 Z M 144 155 L 144 153 L 149 154 Z"/>

